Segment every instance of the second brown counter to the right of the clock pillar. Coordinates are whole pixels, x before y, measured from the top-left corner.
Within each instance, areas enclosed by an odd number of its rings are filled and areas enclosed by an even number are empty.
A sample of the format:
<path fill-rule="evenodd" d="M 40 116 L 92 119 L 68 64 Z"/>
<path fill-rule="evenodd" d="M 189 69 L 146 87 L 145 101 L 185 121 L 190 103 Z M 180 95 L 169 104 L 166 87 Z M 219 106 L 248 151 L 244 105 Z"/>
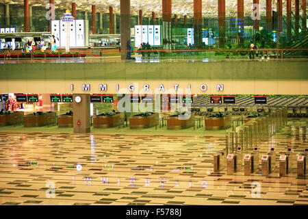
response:
<path fill-rule="evenodd" d="M 131 129 L 145 129 L 154 127 L 158 124 L 158 114 L 145 113 L 137 114 L 129 118 L 129 127 Z"/>

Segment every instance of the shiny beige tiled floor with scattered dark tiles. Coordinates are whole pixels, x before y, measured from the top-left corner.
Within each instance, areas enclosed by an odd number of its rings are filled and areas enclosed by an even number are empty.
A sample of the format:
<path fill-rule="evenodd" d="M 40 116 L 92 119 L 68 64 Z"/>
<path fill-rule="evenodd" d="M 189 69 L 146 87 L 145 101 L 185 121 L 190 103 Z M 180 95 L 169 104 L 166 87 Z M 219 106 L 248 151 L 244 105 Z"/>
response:
<path fill-rule="evenodd" d="M 258 146 L 278 161 L 291 144 L 295 159 L 306 136 L 286 127 Z M 214 173 L 223 147 L 223 136 L 0 133 L 0 205 L 308 205 L 294 165 L 287 177 Z"/>

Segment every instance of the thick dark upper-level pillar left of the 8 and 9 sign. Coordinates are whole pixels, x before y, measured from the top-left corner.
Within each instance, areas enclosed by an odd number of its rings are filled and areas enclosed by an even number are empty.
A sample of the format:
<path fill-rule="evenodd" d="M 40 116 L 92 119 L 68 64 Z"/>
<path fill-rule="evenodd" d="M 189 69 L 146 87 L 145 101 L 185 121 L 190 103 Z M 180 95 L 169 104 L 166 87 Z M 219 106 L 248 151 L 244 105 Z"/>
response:
<path fill-rule="evenodd" d="M 121 60 L 127 59 L 127 43 L 131 43 L 131 1 L 120 0 Z"/>

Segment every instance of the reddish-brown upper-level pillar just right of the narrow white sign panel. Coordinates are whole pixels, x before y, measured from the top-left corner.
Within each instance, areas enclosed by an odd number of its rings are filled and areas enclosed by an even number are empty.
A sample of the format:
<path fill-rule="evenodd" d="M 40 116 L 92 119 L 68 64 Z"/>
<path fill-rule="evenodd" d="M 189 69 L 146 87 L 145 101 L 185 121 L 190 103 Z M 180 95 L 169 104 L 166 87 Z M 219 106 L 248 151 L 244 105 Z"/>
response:
<path fill-rule="evenodd" d="M 194 44 L 202 48 L 202 0 L 194 0 Z"/>

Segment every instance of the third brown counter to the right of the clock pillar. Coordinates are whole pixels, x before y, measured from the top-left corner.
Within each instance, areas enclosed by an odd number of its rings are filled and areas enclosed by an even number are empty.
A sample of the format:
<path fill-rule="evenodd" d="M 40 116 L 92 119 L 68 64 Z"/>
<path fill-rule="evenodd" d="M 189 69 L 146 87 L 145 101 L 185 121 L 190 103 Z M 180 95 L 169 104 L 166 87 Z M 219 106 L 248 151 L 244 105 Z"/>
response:
<path fill-rule="evenodd" d="M 188 129 L 194 126 L 194 114 L 191 114 L 189 118 L 180 119 L 179 116 L 184 115 L 172 115 L 167 118 L 167 129 Z"/>

